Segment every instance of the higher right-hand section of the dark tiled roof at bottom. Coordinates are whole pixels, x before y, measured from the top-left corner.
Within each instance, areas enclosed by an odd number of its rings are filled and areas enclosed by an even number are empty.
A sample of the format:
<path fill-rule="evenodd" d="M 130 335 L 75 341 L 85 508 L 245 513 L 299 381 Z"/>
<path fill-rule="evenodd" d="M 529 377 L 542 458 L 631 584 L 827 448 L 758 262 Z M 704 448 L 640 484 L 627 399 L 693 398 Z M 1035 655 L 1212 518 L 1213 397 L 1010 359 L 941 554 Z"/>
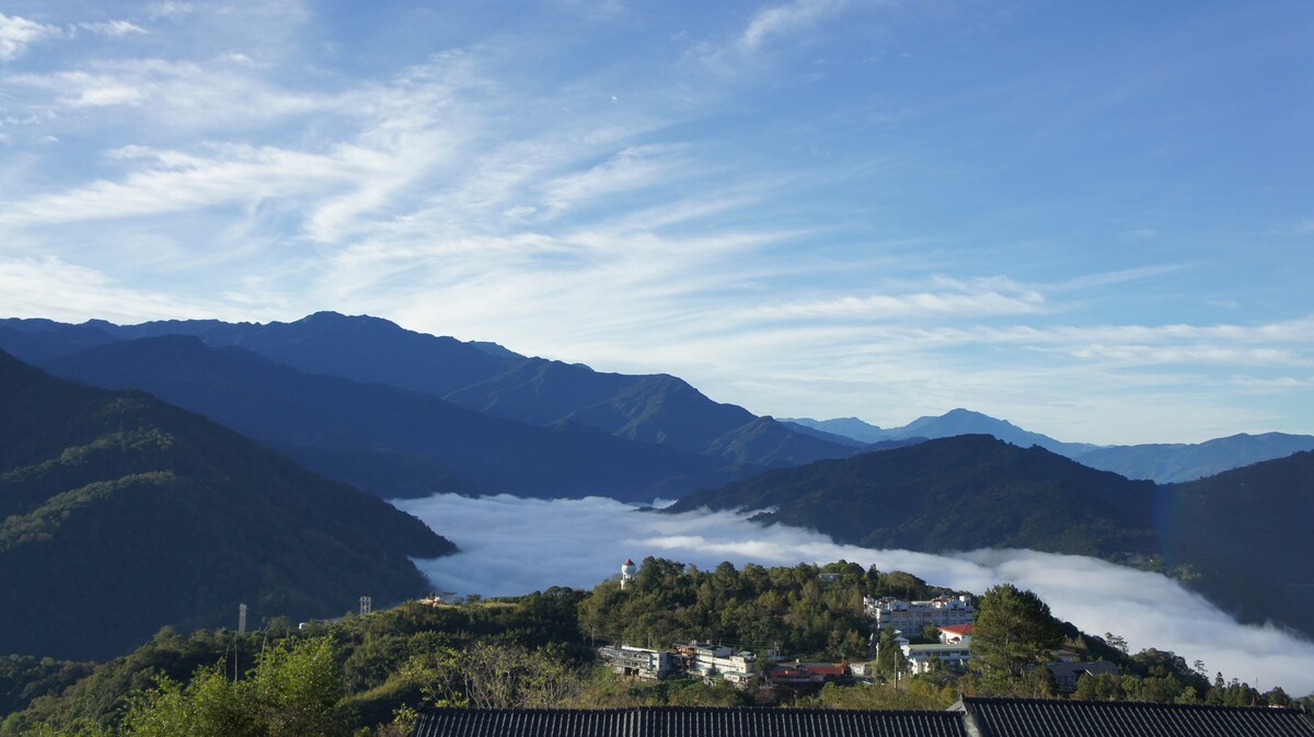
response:
<path fill-rule="evenodd" d="M 1296 709 L 1143 702 L 963 699 L 980 737 L 1314 737 Z"/>

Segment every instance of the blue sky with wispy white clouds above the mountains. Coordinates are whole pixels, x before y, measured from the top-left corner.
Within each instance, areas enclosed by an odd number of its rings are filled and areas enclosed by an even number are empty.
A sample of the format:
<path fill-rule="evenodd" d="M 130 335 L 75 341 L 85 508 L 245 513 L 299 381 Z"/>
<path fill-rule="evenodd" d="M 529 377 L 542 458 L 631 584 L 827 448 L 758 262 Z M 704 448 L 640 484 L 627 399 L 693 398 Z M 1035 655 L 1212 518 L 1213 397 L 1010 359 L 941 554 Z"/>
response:
<path fill-rule="evenodd" d="M 1314 432 L 1311 29 L 1302 0 L 0 0 L 0 314 L 336 310 L 777 416 Z"/>

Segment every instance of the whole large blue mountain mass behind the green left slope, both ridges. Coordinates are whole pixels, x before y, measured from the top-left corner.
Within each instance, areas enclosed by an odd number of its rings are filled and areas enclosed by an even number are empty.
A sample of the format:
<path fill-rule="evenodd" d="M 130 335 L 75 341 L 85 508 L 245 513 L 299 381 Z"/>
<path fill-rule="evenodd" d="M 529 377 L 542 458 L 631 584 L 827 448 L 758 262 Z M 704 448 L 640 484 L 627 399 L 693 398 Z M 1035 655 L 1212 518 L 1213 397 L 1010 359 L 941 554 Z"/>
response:
<path fill-rule="evenodd" d="M 0 348 L 78 381 L 151 391 L 384 497 L 650 501 L 857 452 L 670 376 L 600 373 L 335 313 L 268 324 L 3 321 Z"/>

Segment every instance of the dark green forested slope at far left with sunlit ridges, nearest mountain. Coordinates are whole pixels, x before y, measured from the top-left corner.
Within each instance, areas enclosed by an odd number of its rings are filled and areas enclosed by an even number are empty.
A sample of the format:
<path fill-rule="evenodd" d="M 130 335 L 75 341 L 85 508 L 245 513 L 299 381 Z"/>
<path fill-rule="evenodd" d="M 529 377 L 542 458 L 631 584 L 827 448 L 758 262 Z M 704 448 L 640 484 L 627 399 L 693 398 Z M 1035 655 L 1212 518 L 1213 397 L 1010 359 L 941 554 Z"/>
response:
<path fill-rule="evenodd" d="M 334 616 L 455 550 L 377 497 L 137 391 L 0 353 L 0 652 L 104 658 L 164 624 Z"/>

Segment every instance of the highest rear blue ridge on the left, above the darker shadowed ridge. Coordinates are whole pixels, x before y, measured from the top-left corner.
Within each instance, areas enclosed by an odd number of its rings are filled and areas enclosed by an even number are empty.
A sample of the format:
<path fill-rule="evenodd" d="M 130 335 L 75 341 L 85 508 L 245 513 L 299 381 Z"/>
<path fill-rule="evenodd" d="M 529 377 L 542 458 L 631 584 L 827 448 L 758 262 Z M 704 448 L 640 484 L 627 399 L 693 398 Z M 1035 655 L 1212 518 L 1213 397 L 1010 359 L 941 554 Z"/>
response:
<path fill-rule="evenodd" d="M 714 402 L 666 374 L 602 373 L 581 364 L 531 359 L 489 344 L 413 332 L 371 317 L 315 313 L 292 323 L 163 321 L 137 326 L 88 323 L 118 338 L 196 335 L 209 346 L 238 346 L 306 373 L 424 391 L 495 418 L 549 426 L 585 424 L 641 443 L 694 453 L 727 453 L 733 465 L 779 466 L 844 457 L 853 449 L 792 434 L 763 432 L 757 418 Z M 501 347 L 497 347 L 501 348 Z M 745 437 L 728 440 L 742 432 Z M 724 464 L 723 464 L 724 465 Z"/>

